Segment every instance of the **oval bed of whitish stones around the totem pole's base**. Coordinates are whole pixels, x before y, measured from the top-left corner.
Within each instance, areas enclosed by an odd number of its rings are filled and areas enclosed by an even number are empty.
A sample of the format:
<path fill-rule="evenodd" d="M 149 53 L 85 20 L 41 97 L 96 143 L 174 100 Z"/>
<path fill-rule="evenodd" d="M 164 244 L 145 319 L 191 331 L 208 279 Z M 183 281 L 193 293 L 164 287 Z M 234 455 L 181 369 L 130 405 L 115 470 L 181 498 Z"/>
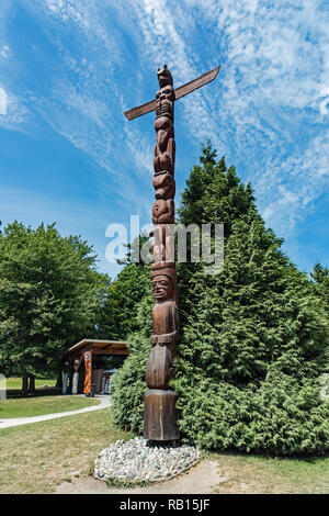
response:
<path fill-rule="evenodd" d="M 117 440 L 95 460 L 94 478 L 128 482 L 159 482 L 189 470 L 201 452 L 188 445 L 159 445 L 140 437 Z"/>

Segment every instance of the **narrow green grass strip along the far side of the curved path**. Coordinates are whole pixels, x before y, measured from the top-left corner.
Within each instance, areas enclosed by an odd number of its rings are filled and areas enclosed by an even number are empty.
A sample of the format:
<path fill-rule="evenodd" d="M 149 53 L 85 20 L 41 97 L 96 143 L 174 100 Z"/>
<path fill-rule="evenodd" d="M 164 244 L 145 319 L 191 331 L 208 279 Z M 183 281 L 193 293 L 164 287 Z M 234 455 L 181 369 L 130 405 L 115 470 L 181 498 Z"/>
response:
<path fill-rule="evenodd" d="M 78 411 L 99 403 L 99 400 L 93 397 L 69 395 L 0 400 L 0 418 L 43 416 L 44 414 Z"/>

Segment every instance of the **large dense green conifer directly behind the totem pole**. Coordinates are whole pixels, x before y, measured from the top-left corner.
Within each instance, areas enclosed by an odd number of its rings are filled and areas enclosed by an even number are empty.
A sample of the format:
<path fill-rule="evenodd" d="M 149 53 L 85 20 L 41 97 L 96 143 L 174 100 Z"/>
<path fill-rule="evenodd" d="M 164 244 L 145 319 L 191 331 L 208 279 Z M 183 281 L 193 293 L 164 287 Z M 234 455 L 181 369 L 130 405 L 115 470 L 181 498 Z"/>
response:
<path fill-rule="evenodd" d="M 306 274 L 266 229 L 251 186 L 243 186 L 211 144 L 182 194 L 179 222 L 224 223 L 220 273 L 179 263 L 181 340 L 172 388 L 183 440 L 205 449 L 276 455 L 329 449 L 328 317 Z M 114 416 L 140 433 L 151 334 L 150 290 L 139 303 L 139 330 L 117 372 Z"/>

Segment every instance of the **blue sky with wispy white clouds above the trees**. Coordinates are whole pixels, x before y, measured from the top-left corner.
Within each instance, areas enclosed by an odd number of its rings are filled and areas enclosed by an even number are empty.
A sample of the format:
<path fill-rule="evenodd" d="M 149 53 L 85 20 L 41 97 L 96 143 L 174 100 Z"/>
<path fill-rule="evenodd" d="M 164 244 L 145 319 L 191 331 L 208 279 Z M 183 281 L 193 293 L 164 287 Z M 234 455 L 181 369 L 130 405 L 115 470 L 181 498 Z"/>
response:
<path fill-rule="evenodd" d="M 123 111 L 220 64 L 177 102 L 177 202 L 201 143 L 251 181 L 266 225 L 303 270 L 329 265 L 329 3 L 1 0 L 0 218 L 94 245 L 110 223 L 150 222 L 154 114 Z"/>

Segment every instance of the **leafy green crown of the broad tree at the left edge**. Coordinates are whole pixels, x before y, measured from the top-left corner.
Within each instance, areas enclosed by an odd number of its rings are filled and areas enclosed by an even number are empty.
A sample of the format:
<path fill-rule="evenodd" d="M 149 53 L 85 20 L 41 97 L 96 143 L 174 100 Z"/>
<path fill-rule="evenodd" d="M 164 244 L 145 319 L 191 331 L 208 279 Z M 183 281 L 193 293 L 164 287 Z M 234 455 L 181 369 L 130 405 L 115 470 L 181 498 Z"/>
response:
<path fill-rule="evenodd" d="M 69 346 L 92 334 L 104 277 L 92 248 L 55 225 L 14 222 L 0 235 L 0 368 L 55 372 Z"/>

